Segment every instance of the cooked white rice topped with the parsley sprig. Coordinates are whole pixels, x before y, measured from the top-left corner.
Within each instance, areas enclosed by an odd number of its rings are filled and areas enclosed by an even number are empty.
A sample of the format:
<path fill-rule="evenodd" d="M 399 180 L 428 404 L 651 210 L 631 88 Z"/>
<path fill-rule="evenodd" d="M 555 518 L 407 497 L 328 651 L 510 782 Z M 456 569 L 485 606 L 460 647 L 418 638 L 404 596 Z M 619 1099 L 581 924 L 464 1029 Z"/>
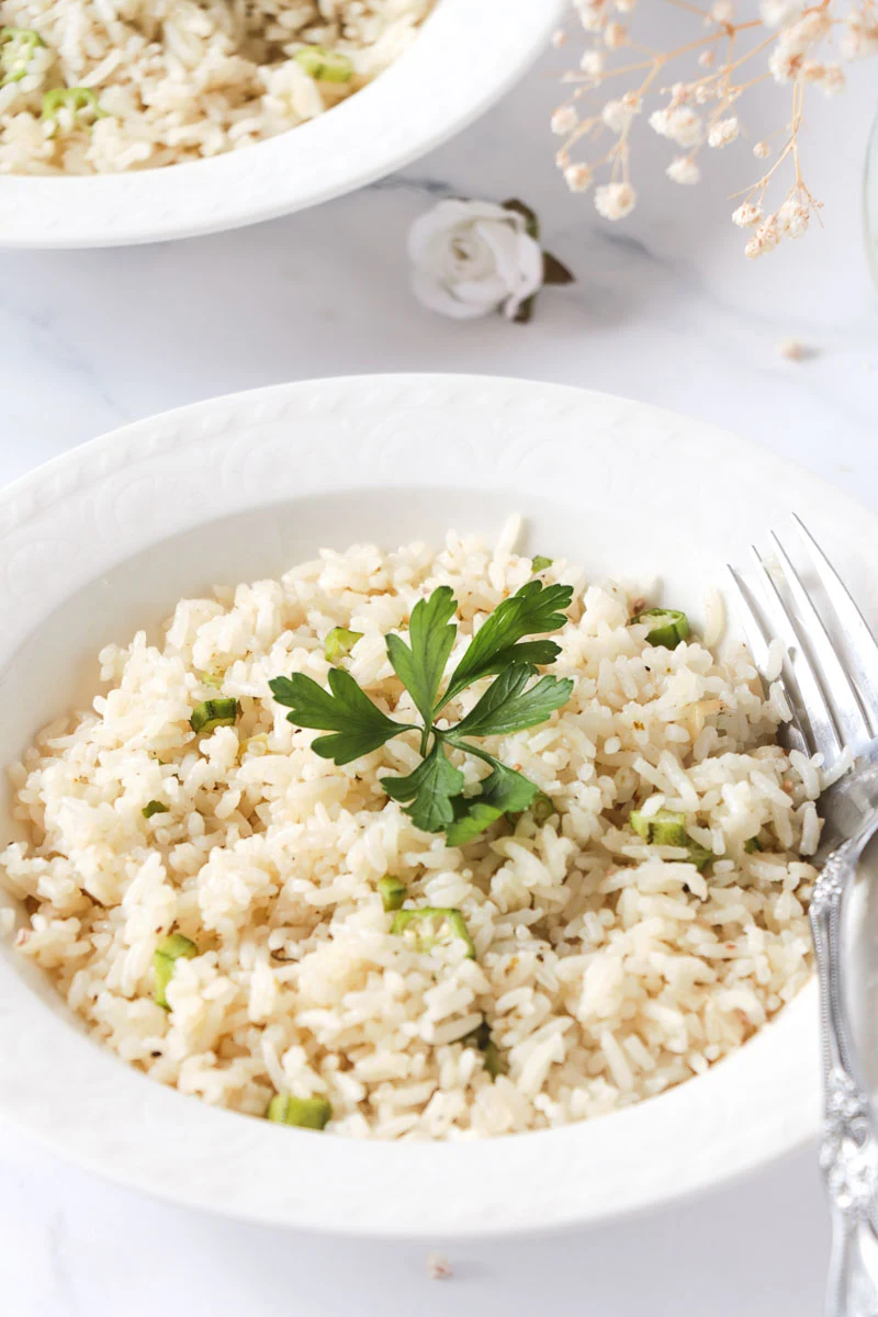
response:
<path fill-rule="evenodd" d="M 417 763 L 413 734 L 336 768 L 272 701 L 278 674 L 325 682 L 324 637 L 344 626 L 365 633 L 345 660 L 355 680 L 408 715 L 386 633 L 404 635 L 413 603 L 448 583 L 455 662 L 532 574 L 508 543 L 325 551 L 280 581 L 182 601 L 158 644 L 141 632 L 100 655 L 109 686 L 93 711 L 47 727 L 12 769 L 32 842 L 0 856 L 26 907 L 21 952 L 96 1038 L 238 1112 L 263 1115 L 275 1092 L 324 1096 L 338 1134 L 459 1138 L 661 1093 L 795 996 L 820 773 L 775 744 L 777 709 L 744 651 L 649 647 L 623 590 L 557 560 L 542 577 L 573 585 L 574 603 L 553 670 L 575 678 L 573 698 L 488 748 L 558 815 L 496 824 L 463 849 L 382 792 L 382 770 Z M 217 694 L 205 673 L 242 715 L 197 740 L 192 709 Z M 461 766 L 471 784 L 484 772 Z M 145 820 L 151 799 L 170 813 Z M 627 822 L 634 805 L 683 811 L 719 859 L 702 874 L 648 846 Z M 757 834 L 763 849 L 749 853 Z M 459 907 L 477 959 L 392 935 L 384 873 L 407 884 L 407 905 Z M 176 961 L 165 1011 L 153 954 L 171 930 L 200 954 Z M 459 1042 L 482 1021 L 508 1064 L 496 1081 Z"/>

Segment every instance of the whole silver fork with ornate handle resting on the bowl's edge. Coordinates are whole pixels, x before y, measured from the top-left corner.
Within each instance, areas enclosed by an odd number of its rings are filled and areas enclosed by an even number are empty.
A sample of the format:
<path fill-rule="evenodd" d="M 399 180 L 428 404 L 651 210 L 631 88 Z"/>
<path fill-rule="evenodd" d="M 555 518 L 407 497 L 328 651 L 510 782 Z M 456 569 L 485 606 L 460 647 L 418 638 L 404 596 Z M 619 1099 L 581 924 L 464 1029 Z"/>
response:
<path fill-rule="evenodd" d="M 864 848 L 878 830 L 878 643 L 837 572 L 795 518 L 815 585 L 803 582 L 773 535 L 771 562 L 754 548 L 753 591 L 729 568 L 741 624 L 765 677 L 769 636 L 786 648 L 783 691 L 790 744 L 854 764 L 820 795 L 824 819 L 811 898 L 823 1034 L 824 1126 L 820 1166 L 832 1217 L 827 1317 L 878 1317 L 878 1139 L 854 1046 L 842 976 L 842 917 Z"/>

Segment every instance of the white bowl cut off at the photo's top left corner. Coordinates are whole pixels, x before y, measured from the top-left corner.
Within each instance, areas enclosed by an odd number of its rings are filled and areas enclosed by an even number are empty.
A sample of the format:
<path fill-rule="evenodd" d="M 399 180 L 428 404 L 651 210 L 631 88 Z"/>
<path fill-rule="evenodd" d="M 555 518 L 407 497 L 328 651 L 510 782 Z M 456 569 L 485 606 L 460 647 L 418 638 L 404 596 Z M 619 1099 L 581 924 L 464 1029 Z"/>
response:
<path fill-rule="evenodd" d="M 300 128 L 212 159 L 88 178 L 0 176 L 0 246 L 158 242 L 326 202 L 401 169 L 496 101 L 562 0 L 437 0 L 412 47 Z"/>

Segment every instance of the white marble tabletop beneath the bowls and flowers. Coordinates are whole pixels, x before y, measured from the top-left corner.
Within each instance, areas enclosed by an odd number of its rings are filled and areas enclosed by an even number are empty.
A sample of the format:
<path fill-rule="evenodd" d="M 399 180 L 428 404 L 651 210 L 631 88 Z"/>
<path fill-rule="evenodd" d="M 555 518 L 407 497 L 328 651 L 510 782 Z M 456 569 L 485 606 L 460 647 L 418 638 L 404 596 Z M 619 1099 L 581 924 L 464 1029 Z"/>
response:
<path fill-rule="evenodd" d="M 0 253 L 0 479 L 211 394 L 466 370 L 691 412 L 878 508 L 878 317 L 860 230 L 874 65 L 808 125 L 824 232 L 748 265 L 724 199 L 746 180 L 746 151 L 727 157 L 721 180 L 713 161 L 708 180 L 683 191 L 661 176 L 665 144 L 644 134 L 642 203 L 625 227 L 563 191 L 545 128 L 557 63 L 546 57 L 503 105 L 403 175 L 320 211 L 163 248 Z M 408 294 L 403 242 L 432 194 L 523 196 L 577 287 L 548 292 L 528 328 L 430 316 Z M 790 335 L 817 356 L 781 358 Z M 146 1201 L 0 1127 L 9 1317 L 817 1317 L 827 1234 L 808 1150 L 673 1213 L 445 1251 L 454 1279 L 430 1281 L 420 1247 L 290 1237 Z"/>

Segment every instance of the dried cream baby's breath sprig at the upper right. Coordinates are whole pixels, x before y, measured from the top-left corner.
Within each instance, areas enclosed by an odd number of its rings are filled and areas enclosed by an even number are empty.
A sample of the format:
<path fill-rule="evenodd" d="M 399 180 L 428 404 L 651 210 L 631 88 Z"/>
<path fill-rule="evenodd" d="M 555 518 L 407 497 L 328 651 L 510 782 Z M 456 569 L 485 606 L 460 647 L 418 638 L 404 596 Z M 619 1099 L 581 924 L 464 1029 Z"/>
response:
<path fill-rule="evenodd" d="M 694 40 L 667 51 L 637 42 L 636 3 L 573 0 L 565 43 L 579 29 L 586 49 L 578 67 L 563 74 L 567 96 L 552 117 L 553 132 L 563 138 L 555 162 L 567 187 L 584 192 L 594 184 L 595 208 L 604 219 L 631 215 L 637 203 L 631 136 L 638 120 L 678 148 L 667 178 L 683 186 L 698 183 L 699 153 L 744 138 L 740 101 L 756 83 L 773 80 L 790 95 L 788 121 L 770 134 L 782 138 L 782 145 L 762 178 L 738 194 L 732 220 L 750 230 L 744 249 L 750 259 L 785 238 L 802 237 L 821 207 L 802 175 L 804 96 L 815 91 L 835 96 L 845 87 L 842 62 L 878 55 L 878 0 L 761 0 L 758 16 L 740 21 L 735 0 L 713 0 L 707 7 L 648 0 L 674 4 L 692 16 Z M 844 11 L 842 4 L 848 5 Z M 559 38 L 555 45 L 562 45 Z M 750 150 L 760 161 L 773 154 L 769 141 Z M 769 194 L 775 198 L 774 209 Z"/>

